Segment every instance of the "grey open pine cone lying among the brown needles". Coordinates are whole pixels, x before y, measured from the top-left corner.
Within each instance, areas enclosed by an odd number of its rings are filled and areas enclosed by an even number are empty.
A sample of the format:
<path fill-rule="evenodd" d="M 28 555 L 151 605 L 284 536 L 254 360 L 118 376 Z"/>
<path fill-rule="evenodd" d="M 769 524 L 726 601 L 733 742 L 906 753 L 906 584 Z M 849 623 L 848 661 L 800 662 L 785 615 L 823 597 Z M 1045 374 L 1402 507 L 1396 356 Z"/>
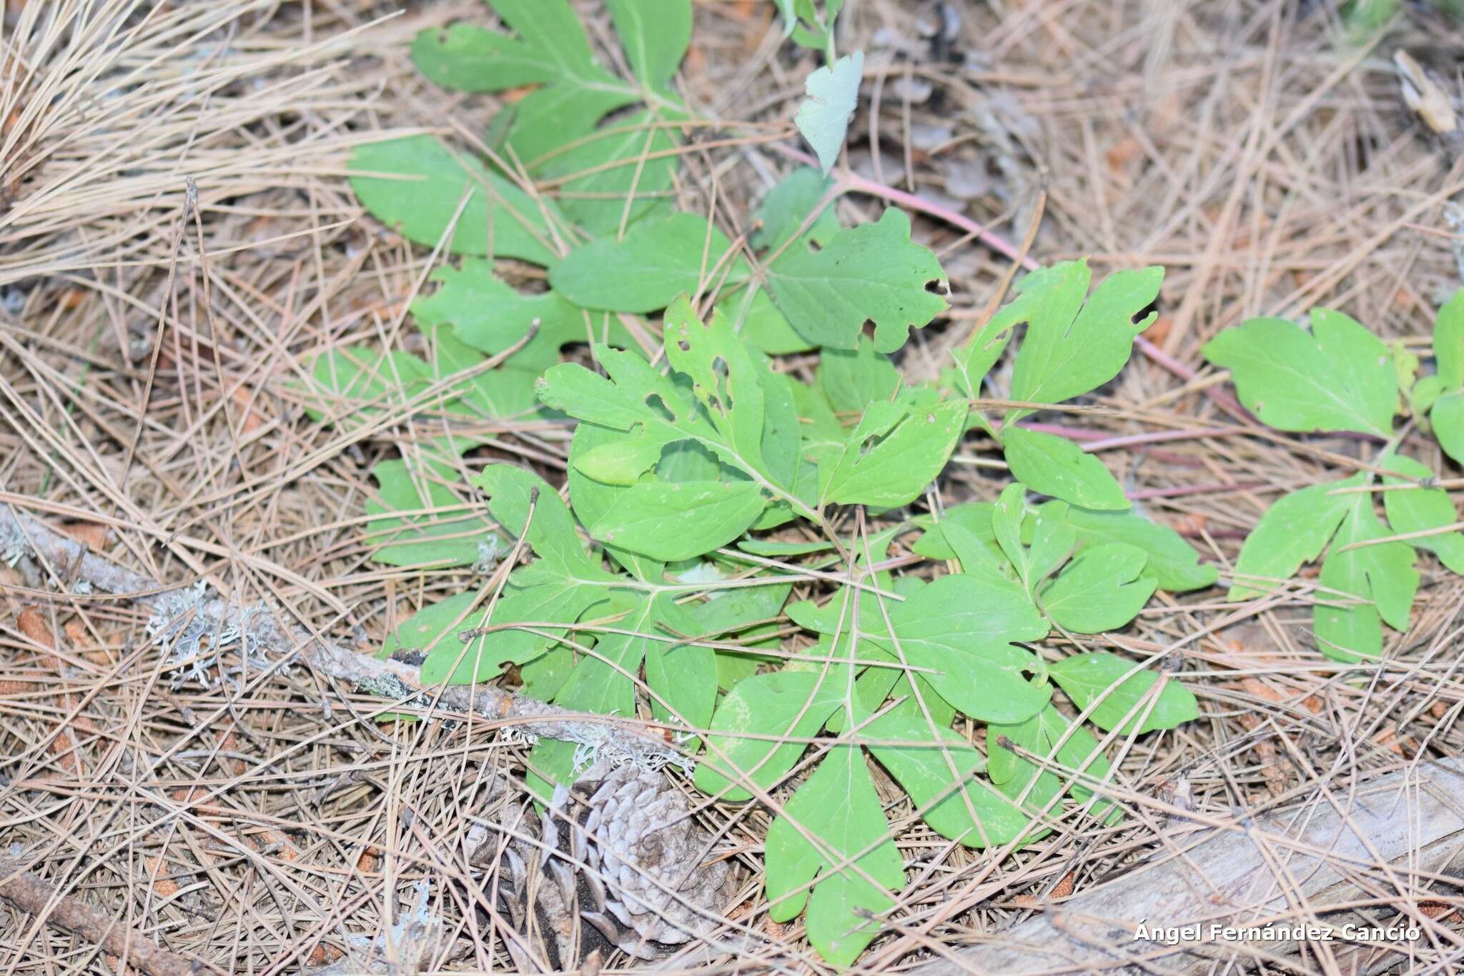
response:
<path fill-rule="evenodd" d="M 583 966 L 616 948 L 657 958 L 710 934 L 736 896 L 732 866 L 707 863 L 710 836 L 687 797 L 635 764 L 593 767 L 572 789 L 555 790 L 537 818 L 526 815 L 518 833 L 502 846 L 509 878 L 498 884 L 514 929 L 527 936 L 508 939 L 526 972 Z M 482 844 L 473 860 L 490 863 L 498 847 Z"/>

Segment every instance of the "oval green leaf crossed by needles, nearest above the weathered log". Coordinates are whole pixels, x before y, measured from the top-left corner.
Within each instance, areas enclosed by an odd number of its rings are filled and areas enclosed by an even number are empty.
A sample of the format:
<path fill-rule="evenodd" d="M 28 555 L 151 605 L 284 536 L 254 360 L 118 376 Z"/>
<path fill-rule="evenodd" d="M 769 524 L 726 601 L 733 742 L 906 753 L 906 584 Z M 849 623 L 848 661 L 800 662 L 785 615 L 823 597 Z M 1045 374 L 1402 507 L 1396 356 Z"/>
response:
<path fill-rule="evenodd" d="M 1143 735 L 1199 718 L 1199 702 L 1189 688 L 1171 677 L 1155 698 L 1149 691 L 1159 682 L 1159 675 L 1149 670 L 1129 675 L 1133 670 L 1130 661 L 1107 651 L 1073 654 L 1048 669 L 1053 680 L 1079 708 L 1098 702 L 1088 717 L 1107 732 L 1118 729 L 1127 736 L 1138 730 Z M 1135 714 L 1126 720 L 1130 711 Z"/>

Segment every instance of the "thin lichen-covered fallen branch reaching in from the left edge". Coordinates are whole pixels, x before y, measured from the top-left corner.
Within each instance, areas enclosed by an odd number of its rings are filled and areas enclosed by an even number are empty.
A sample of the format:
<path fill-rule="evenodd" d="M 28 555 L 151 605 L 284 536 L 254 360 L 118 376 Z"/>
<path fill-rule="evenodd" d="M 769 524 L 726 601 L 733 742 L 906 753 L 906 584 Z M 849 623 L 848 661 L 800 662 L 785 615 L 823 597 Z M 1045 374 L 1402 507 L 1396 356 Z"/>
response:
<path fill-rule="evenodd" d="M 31 552 L 64 585 L 85 584 L 92 590 L 130 597 L 165 617 L 164 632 L 176 635 L 170 619 L 176 607 L 187 606 L 195 615 L 187 632 L 227 644 L 223 635 L 237 635 L 246 650 L 278 657 L 294 654 L 302 661 L 335 680 L 391 699 L 394 711 L 476 714 L 501 726 L 512 726 L 529 736 L 574 742 L 610 761 L 634 761 L 656 768 L 684 764 L 669 730 L 606 718 L 515 695 L 489 685 L 452 685 L 441 691 L 422 683 L 422 669 L 395 660 L 378 660 L 318 638 L 297 623 L 281 623 L 281 612 L 262 603 L 236 606 L 220 598 L 193 600 L 189 590 L 160 588 L 136 572 L 123 569 L 89 552 L 81 543 L 51 530 L 44 522 L 0 502 L 0 556 Z"/>

